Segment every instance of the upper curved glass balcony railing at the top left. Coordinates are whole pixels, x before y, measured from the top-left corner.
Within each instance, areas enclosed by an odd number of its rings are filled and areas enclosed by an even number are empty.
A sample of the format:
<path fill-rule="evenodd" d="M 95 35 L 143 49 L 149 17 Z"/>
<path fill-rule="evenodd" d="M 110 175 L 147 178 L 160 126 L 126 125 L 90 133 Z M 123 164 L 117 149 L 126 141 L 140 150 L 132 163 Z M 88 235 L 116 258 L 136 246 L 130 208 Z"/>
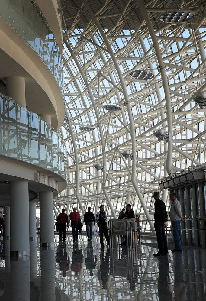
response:
<path fill-rule="evenodd" d="M 59 47 L 34 1 L 1 0 L 0 16 L 38 53 L 63 94 L 63 65 Z"/>

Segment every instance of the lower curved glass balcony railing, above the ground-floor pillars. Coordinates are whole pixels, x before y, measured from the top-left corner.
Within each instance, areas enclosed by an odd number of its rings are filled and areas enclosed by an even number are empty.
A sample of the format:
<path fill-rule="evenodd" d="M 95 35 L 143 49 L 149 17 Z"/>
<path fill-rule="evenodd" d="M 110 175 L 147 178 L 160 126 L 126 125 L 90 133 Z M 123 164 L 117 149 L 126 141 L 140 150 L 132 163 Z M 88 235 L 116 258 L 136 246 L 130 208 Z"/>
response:
<path fill-rule="evenodd" d="M 66 146 L 60 132 L 2 94 L 0 154 L 37 165 L 67 180 Z"/>

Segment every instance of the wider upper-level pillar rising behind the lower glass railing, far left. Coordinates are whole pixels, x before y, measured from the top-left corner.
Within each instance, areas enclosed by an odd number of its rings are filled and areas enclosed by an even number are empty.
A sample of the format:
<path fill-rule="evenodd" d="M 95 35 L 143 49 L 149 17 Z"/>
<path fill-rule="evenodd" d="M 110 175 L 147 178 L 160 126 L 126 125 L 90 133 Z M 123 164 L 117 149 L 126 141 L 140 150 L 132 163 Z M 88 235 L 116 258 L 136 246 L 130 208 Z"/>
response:
<path fill-rule="evenodd" d="M 26 106 L 25 79 L 20 76 L 6 78 L 6 94 L 18 104 Z"/>

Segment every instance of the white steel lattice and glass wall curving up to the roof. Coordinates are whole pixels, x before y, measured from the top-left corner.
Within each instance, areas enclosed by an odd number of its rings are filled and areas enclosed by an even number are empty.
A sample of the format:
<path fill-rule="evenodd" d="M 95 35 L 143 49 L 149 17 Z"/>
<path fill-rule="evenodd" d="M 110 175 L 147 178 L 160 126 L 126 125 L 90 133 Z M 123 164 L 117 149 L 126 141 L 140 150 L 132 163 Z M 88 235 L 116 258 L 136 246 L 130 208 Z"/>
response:
<path fill-rule="evenodd" d="M 158 181 L 205 163 L 205 112 L 193 100 L 206 90 L 205 1 L 61 4 L 69 180 L 54 206 L 83 214 L 104 203 L 116 217 L 131 203 L 149 220 Z"/>

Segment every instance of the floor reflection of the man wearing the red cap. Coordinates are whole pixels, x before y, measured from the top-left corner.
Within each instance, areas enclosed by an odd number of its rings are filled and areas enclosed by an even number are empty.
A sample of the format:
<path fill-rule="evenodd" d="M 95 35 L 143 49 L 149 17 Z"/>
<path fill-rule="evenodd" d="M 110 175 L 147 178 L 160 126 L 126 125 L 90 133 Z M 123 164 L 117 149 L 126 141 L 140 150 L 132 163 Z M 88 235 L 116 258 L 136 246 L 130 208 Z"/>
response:
<path fill-rule="evenodd" d="M 109 255 L 110 251 L 109 249 L 106 252 L 105 258 L 104 258 L 104 249 L 101 248 L 100 251 L 100 267 L 97 273 L 99 282 L 102 283 L 102 288 L 107 289 L 108 288 L 108 276 L 109 276 Z"/>

